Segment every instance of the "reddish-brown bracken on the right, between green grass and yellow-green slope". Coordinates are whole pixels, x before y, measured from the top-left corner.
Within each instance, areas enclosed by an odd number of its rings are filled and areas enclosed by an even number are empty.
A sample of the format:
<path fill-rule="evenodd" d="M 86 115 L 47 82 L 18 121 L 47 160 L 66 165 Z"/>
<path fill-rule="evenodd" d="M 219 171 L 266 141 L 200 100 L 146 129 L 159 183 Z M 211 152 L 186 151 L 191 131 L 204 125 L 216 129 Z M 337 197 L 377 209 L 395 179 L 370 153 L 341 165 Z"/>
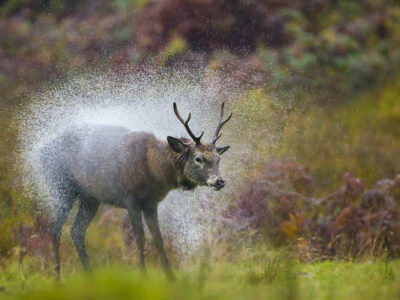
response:
<path fill-rule="evenodd" d="M 224 217 L 236 236 L 282 245 L 292 242 L 306 260 L 400 255 L 400 175 L 365 190 L 344 176 L 343 186 L 325 198 L 307 197 L 312 177 L 302 166 L 271 163 L 249 184 Z"/>

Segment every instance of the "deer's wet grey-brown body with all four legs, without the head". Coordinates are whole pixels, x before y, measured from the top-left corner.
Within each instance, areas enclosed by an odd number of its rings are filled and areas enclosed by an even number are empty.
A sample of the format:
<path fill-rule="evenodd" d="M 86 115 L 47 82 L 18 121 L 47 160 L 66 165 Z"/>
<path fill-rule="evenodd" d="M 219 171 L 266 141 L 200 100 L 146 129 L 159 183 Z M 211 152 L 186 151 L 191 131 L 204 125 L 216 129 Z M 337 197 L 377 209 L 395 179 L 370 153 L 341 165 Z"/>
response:
<path fill-rule="evenodd" d="M 60 273 L 59 243 L 63 224 L 79 198 L 80 207 L 71 229 L 79 257 L 88 268 L 84 235 L 100 203 L 128 209 L 144 269 L 145 216 L 164 269 L 173 277 L 158 228 L 157 204 L 179 187 L 193 189 L 185 178 L 187 158 L 168 143 L 145 132 L 115 126 L 73 127 L 41 151 L 41 166 L 50 191 L 57 199 L 52 226 L 56 271 Z M 150 224 L 150 225 L 149 225 Z"/>

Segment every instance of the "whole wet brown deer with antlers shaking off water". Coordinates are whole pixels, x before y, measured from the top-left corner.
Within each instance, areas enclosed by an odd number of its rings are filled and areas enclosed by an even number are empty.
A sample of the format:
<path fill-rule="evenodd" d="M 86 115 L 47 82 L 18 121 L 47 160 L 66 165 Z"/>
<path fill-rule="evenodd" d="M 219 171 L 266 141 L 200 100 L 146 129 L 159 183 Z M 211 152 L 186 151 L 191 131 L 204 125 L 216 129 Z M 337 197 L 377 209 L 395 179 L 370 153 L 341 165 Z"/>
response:
<path fill-rule="evenodd" d="M 204 131 L 195 136 L 189 127 L 192 114 L 184 120 L 175 102 L 173 110 L 191 139 L 168 136 L 165 142 L 148 132 L 84 124 L 65 129 L 41 148 L 42 173 L 54 199 L 51 236 L 58 279 L 61 232 L 76 199 L 79 206 L 70 235 L 85 270 L 91 270 L 85 233 L 103 203 L 127 209 L 142 273 L 146 274 L 144 218 L 167 278 L 175 278 L 164 249 L 158 204 L 174 189 L 206 186 L 218 191 L 225 186 L 219 162 L 230 146 L 218 147 L 216 142 L 232 113 L 223 120 L 221 104 L 214 136 L 205 143 L 201 141 Z"/>

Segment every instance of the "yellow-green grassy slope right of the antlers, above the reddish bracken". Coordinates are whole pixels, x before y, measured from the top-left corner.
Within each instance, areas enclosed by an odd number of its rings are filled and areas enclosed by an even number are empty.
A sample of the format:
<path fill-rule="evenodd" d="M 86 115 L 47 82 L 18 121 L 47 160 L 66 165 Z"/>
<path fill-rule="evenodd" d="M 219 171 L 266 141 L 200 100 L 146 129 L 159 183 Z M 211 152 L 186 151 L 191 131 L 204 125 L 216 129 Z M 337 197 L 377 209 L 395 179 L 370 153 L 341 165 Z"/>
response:
<path fill-rule="evenodd" d="M 371 186 L 400 173 L 399 94 L 400 80 L 394 80 L 342 105 L 320 106 L 307 95 L 292 103 L 252 90 L 234 103 L 230 126 L 238 130 L 225 139 L 236 153 L 252 154 L 241 166 L 248 177 L 257 177 L 263 162 L 273 159 L 309 167 L 322 195 L 340 187 L 346 172 Z"/>

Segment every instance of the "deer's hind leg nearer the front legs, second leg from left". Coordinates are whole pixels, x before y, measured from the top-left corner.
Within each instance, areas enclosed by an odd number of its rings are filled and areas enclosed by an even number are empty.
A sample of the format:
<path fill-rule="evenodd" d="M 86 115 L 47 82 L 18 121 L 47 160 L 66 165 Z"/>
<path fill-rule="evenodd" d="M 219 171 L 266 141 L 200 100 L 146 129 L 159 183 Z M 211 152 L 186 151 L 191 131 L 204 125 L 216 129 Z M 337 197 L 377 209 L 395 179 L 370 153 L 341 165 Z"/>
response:
<path fill-rule="evenodd" d="M 85 195 L 79 196 L 79 210 L 76 215 L 74 224 L 71 227 L 71 237 L 75 244 L 76 251 L 82 265 L 86 270 L 90 269 L 89 258 L 85 248 L 85 234 L 86 230 L 96 215 L 99 208 L 100 201 L 95 198 Z"/>

